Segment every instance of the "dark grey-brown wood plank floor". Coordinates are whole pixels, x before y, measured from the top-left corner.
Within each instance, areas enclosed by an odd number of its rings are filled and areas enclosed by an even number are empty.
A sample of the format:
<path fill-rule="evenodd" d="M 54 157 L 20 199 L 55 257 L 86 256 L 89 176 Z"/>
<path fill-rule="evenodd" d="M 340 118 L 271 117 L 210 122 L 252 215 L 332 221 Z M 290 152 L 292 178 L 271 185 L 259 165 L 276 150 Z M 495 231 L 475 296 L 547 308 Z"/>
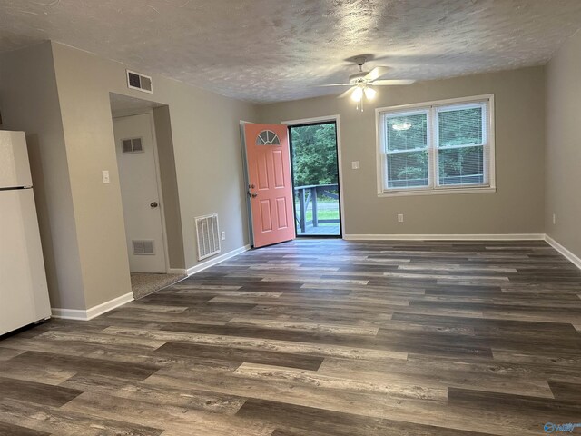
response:
<path fill-rule="evenodd" d="M 543 242 L 283 243 L 0 340 L 0 434 L 547 434 L 580 331 Z"/>

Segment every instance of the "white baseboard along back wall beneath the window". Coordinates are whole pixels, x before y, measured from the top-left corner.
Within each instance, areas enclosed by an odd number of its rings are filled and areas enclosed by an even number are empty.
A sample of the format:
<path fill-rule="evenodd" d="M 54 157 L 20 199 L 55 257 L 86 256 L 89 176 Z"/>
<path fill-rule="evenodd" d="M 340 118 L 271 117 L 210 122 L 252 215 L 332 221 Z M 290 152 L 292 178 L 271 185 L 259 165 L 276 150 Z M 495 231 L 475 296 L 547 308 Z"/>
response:
<path fill-rule="evenodd" d="M 344 234 L 346 241 L 543 241 L 544 233 Z"/>

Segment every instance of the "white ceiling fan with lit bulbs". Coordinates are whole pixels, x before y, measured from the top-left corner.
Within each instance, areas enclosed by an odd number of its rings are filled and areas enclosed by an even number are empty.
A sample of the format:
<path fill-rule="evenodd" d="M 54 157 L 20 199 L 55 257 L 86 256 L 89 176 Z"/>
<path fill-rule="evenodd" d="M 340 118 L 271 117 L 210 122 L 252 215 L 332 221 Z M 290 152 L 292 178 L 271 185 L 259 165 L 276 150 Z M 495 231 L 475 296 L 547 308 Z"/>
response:
<path fill-rule="evenodd" d="M 376 66 L 371 71 L 363 71 L 363 64 L 367 61 L 365 56 L 356 57 L 353 59 L 359 66 L 359 72 L 349 76 L 349 83 L 347 84 L 321 84 L 320 86 L 350 86 L 350 89 L 340 94 L 339 98 L 351 95 L 351 100 L 357 102 L 357 108 L 363 111 L 363 97 L 368 100 L 373 100 L 376 90 L 374 86 L 389 86 L 397 84 L 413 84 L 415 80 L 402 79 L 380 79 L 380 77 L 387 74 L 390 70 L 389 66 Z"/>

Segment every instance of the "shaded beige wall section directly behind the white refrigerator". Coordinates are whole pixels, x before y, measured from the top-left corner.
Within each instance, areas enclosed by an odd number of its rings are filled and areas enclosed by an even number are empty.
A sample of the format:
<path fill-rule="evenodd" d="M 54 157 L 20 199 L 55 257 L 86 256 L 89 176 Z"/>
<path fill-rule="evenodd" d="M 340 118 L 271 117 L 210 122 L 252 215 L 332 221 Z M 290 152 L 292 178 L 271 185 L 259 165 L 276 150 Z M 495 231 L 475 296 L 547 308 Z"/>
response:
<path fill-rule="evenodd" d="M 0 56 L 5 130 L 26 133 L 53 307 L 85 307 L 63 124 L 50 43 Z"/>

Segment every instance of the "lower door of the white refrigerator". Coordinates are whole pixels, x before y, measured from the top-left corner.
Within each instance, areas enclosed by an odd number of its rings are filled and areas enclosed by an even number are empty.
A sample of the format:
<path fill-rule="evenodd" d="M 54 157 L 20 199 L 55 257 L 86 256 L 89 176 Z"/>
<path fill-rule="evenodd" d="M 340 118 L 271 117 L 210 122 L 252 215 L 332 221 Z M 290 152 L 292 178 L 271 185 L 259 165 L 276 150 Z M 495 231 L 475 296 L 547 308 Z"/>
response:
<path fill-rule="evenodd" d="M 0 334 L 50 313 L 33 190 L 0 191 Z"/>

